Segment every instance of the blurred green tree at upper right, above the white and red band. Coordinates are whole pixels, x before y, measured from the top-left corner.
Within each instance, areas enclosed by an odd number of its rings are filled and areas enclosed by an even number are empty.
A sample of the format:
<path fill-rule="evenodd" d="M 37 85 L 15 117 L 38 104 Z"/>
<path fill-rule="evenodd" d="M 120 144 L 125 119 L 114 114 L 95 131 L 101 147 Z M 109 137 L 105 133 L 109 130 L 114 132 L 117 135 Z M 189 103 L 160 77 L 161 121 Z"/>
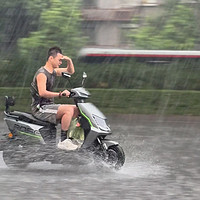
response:
<path fill-rule="evenodd" d="M 192 50 L 197 36 L 194 10 L 179 1 L 168 1 L 165 13 L 148 19 L 131 39 L 140 49 Z"/>

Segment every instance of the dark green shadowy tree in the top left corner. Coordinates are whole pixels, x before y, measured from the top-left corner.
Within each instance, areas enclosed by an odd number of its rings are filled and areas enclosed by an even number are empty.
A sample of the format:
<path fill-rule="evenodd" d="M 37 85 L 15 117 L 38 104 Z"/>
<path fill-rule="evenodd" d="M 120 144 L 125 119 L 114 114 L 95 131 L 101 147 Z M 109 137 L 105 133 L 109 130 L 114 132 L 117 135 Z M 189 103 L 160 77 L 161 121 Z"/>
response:
<path fill-rule="evenodd" d="M 0 0 L 0 50 L 1 53 L 13 53 L 17 40 L 26 37 L 34 29 L 34 13 L 29 12 L 26 0 Z M 4 54 L 5 55 L 5 54 Z"/>

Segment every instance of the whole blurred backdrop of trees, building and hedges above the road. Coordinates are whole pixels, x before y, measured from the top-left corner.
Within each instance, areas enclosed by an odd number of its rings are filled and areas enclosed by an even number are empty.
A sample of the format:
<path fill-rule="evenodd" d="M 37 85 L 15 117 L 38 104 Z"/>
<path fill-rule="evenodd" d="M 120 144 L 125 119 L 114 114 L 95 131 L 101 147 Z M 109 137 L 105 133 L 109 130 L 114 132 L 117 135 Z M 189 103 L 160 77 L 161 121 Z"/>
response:
<path fill-rule="evenodd" d="M 29 110 L 50 47 L 83 71 L 105 112 L 199 115 L 199 0 L 0 0 L 0 109 Z M 65 63 L 64 63 L 65 64 Z M 55 90 L 69 87 L 61 78 Z"/>

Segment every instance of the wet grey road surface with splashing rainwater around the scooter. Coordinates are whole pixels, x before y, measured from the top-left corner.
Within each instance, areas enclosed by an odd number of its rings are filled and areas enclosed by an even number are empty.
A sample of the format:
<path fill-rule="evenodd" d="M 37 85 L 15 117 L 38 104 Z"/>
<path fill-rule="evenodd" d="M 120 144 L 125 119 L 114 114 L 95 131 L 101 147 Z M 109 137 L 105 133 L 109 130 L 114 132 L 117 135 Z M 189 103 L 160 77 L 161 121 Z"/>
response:
<path fill-rule="evenodd" d="M 92 163 L 8 168 L 0 152 L 0 199 L 199 200 L 200 118 L 108 117 L 126 154 L 120 171 Z M 6 131 L 0 122 L 0 133 Z"/>

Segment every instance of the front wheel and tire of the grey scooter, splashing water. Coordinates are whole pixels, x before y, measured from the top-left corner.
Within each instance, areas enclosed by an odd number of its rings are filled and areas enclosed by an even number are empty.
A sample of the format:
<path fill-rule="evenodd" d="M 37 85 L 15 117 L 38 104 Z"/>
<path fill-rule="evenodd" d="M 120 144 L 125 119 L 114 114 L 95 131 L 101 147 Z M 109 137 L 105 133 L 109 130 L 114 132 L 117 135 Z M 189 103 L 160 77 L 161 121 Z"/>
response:
<path fill-rule="evenodd" d="M 121 146 L 109 146 L 107 151 L 106 163 L 116 170 L 119 170 L 125 162 L 125 154 Z"/>

